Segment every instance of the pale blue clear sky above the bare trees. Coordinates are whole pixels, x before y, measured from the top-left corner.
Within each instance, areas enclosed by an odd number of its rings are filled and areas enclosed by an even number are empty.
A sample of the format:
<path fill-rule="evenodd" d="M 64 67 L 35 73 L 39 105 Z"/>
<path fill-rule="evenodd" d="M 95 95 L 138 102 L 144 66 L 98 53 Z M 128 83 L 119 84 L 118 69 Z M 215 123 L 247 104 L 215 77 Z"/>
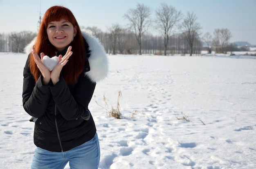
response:
<path fill-rule="evenodd" d="M 202 33 L 227 28 L 231 42 L 256 44 L 256 0 L 0 0 L 0 33 L 37 31 L 40 4 L 42 17 L 53 5 L 63 5 L 75 15 L 80 26 L 97 26 L 102 31 L 119 23 L 126 26 L 124 13 L 141 3 L 150 7 L 152 17 L 161 2 L 175 7 L 184 15 L 194 12 Z M 153 30 L 151 30 L 153 31 Z"/>

